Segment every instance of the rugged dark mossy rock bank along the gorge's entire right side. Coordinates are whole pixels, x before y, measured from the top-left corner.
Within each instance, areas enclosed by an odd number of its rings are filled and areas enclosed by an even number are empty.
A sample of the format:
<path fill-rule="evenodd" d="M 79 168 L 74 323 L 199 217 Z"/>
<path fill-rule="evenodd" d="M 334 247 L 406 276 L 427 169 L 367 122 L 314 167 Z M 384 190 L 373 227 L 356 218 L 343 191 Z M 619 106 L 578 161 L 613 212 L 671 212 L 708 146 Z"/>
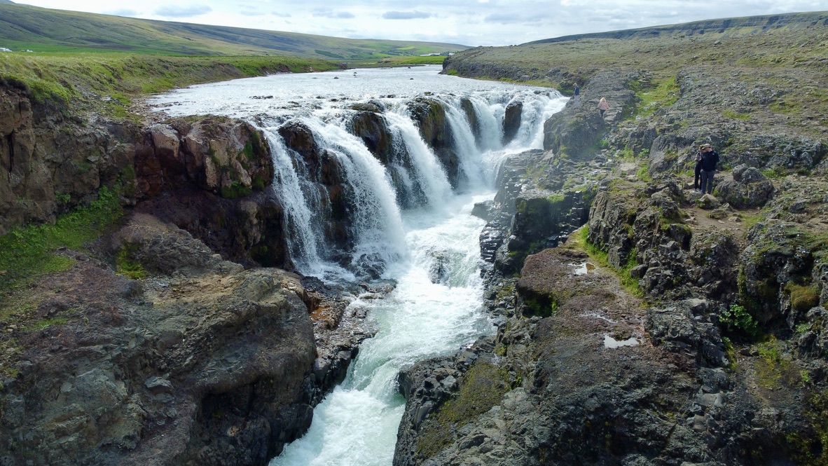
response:
<path fill-rule="evenodd" d="M 715 41 L 692 53 L 715 56 Z M 664 63 L 632 53 L 609 69 L 566 55 L 592 43 L 539 47 L 446 60 L 581 93 L 476 210 L 498 334 L 401 372 L 394 464 L 825 464 L 826 118 L 777 113 L 824 72 L 688 55 L 661 80 Z M 701 142 L 722 155 L 713 195 L 693 190 Z"/>

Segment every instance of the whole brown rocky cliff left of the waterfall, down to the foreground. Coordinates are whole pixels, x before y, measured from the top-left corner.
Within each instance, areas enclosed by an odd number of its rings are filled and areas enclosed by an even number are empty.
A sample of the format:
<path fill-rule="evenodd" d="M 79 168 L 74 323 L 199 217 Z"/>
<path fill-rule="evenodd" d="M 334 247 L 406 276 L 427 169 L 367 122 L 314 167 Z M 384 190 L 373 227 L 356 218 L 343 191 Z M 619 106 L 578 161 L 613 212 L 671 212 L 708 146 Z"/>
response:
<path fill-rule="evenodd" d="M 4 232 L 102 186 L 129 206 L 68 271 L 4 288 L 0 463 L 267 464 L 370 335 L 348 300 L 392 286 L 258 267 L 292 266 L 247 123 L 84 121 L 12 87 L 0 108 Z"/>

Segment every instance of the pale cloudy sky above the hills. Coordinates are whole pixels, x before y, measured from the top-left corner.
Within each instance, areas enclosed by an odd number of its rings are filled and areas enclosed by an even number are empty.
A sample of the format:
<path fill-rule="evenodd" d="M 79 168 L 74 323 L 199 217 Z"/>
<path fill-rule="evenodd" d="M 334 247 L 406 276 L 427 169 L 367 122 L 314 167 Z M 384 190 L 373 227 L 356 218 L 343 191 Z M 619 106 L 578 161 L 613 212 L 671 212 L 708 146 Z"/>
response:
<path fill-rule="evenodd" d="M 466 46 L 507 46 L 585 32 L 828 10 L 828 0 L 15 1 L 162 21 Z"/>

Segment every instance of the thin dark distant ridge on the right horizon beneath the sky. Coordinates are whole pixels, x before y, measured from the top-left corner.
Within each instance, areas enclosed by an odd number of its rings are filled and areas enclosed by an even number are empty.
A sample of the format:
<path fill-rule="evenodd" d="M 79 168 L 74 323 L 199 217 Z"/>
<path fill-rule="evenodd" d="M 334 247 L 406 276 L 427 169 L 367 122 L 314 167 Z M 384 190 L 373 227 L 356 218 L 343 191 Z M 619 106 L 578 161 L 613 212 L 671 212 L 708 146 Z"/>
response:
<path fill-rule="evenodd" d="M 828 26 L 828 16 L 826 16 L 826 14 L 828 14 L 828 12 L 802 12 L 757 17 L 709 19 L 666 26 L 625 29 L 623 31 L 575 34 L 574 36 L 554 37 L 551 39 L 527 42 L 525 45 L 579 41 L 581 39 L 647 39 L 652 37 L 669 36 L 701 36 L 705 34 L 708 36 L 719 35 L 722 37 L 737 37 L 768 31 L 768 29 L 798 29 L 808 26 L 817 26 L 819 24 L 822 26 Z"/>

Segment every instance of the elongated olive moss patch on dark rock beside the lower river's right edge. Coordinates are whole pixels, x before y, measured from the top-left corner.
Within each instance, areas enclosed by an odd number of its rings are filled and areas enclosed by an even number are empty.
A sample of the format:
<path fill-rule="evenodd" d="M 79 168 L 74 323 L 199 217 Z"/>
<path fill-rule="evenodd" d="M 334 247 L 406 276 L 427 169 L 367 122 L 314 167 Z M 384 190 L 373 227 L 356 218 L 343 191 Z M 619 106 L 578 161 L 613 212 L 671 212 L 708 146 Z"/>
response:
<path fill-rule="evenodd" d="M 475 362 L 461 379 L 460 392 L 421 425 L 416 453 L 431 458 L 454 443 L 455 432 L 492 406 L 498 406 L 508 389 L 501 369 L 492 363 Z"/>

